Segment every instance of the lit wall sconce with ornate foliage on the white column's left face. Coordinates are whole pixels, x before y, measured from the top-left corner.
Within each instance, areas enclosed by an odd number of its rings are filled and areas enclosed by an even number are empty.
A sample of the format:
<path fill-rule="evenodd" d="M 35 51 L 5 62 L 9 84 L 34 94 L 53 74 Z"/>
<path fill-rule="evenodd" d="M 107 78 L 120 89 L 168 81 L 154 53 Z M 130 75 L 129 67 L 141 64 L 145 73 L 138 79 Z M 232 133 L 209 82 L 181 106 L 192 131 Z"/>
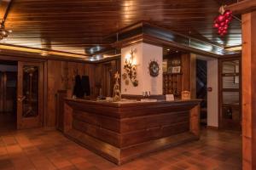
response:
<path fill-rule="evenodd" d="M 128 77 L 131 80 L 131 83 L 134 87 L 137 87 L 138 81 L 137 81 L 137 66 L 135 64 L 134 59 L 134 50 L 131 49 L 131 52 L 129 55 L 125 56 L 125 65 L 124 65 L 125 73 L 122 75 L 122 77 Z"/>

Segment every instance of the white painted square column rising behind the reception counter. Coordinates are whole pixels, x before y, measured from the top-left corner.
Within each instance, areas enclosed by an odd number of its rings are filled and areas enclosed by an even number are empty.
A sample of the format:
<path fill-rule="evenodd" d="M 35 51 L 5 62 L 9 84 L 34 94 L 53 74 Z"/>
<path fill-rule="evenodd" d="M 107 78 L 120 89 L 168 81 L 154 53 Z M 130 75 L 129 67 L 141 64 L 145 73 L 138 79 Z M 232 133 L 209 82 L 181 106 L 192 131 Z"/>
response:
<path fill-rule="evenodd" d="M 148 43 L 137 43 L 135 45 L 121 49 L 121 75 L 125 73 L 125 56 L 129 55 L 131 49 L 134 50 L 134 63 L 137 65 L 138 86 L 134 87 L 129 80 L 129 85 L 125 85 L 121 77 L 121 94 L 142 95 L 144 91 L 150 91 L 151 95 L 163 94 L 163 49 Z M 160 73 L 158 77 L 151 77 L 148 65 L 151 60 L 158 62 Z"/>

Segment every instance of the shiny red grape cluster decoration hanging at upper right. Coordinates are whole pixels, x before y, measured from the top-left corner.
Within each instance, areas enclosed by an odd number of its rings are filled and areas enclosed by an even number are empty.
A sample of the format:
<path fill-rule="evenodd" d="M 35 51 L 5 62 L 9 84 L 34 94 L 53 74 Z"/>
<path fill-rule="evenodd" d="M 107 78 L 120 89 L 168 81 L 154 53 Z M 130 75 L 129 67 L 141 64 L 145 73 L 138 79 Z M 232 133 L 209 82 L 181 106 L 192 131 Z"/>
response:
<path fill-rule="evenodd" d="M 228 33 L 228 28 L 230 21 L 232 20 L 232 12 L 230 10 L 225 10 L 224 14 L 218 15 L 214 20 L 214 28 L 218 29 L 218 34 L 224 37 Z"/>

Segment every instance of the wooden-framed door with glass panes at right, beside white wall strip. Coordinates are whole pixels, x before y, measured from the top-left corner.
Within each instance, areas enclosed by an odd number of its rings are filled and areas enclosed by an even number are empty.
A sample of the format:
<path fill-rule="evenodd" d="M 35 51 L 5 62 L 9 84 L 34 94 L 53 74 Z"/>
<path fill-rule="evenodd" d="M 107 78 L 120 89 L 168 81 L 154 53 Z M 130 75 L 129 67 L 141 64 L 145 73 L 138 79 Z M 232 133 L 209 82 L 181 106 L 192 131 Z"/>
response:
<path fill-rule="evenodd" d="M 241 130 L 241 63 L 240 59 L 219 62 L 219 127 Z"/>

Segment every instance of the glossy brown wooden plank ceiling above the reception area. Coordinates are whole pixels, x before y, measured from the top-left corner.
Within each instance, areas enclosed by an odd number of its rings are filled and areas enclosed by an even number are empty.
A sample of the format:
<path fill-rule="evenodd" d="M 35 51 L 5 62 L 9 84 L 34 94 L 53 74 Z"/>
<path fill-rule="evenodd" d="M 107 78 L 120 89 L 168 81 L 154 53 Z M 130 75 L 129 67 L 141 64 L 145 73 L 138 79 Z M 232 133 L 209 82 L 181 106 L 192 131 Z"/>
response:
<path fill-rule="evenodd" d="M 146 20 L 203 41 L 239 45 L 239 21 L 224 38 L 212 28 L 221 3 L 236 0 L 13 0 L 5 22 L 13 32 L 1 42 L 84 54 L 84 48 L 107 46 L 102 37 Z"/>

